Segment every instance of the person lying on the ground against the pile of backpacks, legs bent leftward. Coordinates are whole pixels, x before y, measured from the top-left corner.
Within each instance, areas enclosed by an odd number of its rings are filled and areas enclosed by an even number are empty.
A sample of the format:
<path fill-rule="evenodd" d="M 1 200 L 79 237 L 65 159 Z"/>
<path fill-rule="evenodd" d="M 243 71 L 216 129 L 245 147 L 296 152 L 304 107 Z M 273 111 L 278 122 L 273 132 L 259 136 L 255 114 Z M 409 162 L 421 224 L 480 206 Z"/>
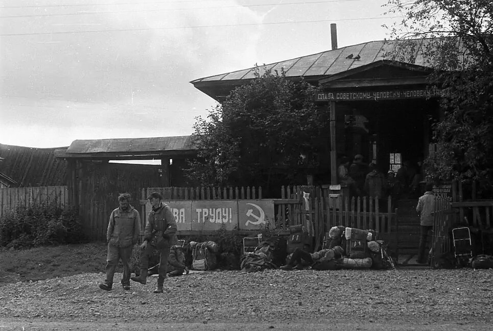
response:
<path fill-rule="evenodd" d="M 334 259 L 339 259 L 342 257 L 343 253 L 344 253 L 344 249 L 342 249 L 341 246 L 322 249 L 314 253 L 309 253 L 308 251 L 303 250 L 301 248 L 296 248 L 291 258 L 289 259 L 289 262 L 286 265 L 281 266 L 279 268 L 283 270 L 292 270 L 292 269 L 301 270 L 307 264 L 311 267 L 314 267 L 317 264 L 325 263 Z"/>

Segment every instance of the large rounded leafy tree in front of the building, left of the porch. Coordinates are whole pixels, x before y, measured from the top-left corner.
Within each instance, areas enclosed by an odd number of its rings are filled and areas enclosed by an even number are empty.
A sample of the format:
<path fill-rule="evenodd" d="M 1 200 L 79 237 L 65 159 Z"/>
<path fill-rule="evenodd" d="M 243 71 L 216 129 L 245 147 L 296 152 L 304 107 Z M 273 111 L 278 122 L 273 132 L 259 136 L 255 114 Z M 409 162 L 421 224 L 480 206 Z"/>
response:
<path fill-rule="evenodd" d="M 316 107 L 316 88 L 266 70 L 237 87 L 194 125 L 197 160 L 189 177 L 202 185 L 293 184 L 296 173 L 316 168 L 327 142 L 328 114 Z M 304 158 L 303 161 L 303 156 Z M 307 163 L 308 161 L 308 163 Z M 301 184 L 301 183 L 297 183 Z"/>

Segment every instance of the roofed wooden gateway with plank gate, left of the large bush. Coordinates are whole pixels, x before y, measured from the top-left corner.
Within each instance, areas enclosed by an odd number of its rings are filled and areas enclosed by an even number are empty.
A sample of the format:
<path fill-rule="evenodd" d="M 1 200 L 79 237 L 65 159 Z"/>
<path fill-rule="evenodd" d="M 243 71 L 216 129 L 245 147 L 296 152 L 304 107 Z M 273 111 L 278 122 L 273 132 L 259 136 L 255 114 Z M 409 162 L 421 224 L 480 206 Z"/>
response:
<path fill-rule="evenodd" d="M 79 208 L 84 233 L 105 240 L 118 195 L 130 193 L 139 208 L 141 189 L 184 186 L 186 159 L 196 156 L 191 136 L 75 140 L 55 156 L 66 160 L 69 204 Z M 160 160 L 161 165 L 119 164 L 111 160 Z"/>

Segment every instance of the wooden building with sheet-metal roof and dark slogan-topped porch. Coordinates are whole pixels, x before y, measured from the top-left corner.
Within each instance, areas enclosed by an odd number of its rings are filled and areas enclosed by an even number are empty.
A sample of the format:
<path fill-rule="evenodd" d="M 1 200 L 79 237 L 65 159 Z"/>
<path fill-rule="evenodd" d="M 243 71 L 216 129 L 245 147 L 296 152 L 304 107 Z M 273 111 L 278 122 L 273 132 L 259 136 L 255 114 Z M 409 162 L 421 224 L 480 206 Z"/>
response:
<path fill-rule="evenodd" d="M 337 162 L 357 154 L 365 162 L 377 163 L 382 171 L 411 164 L 428 156 L 431 141 L 430 122 L 440 118 L 439 91 L 429 91 L 427 66 L 420 47 L 427 39 L 418 39 L 414 63 L 385 59 L 397 42 L 371 41 L 358 45 L 280 61 L 263 66 L 200 78 L 191 83 L 202 92 L 221 101 L 235 87 L 254 79 L 255 70 L 281 69 L 291 80 L 303 78 L 320 86 L 316 96 L 320 107 L 331 113 L 327 151 L 318 169 L 320 181 L 336 184 Z M 328 182 L 330 181 L 330 182 Z M 327 183 L 328 182 L 328 183 Z"/>

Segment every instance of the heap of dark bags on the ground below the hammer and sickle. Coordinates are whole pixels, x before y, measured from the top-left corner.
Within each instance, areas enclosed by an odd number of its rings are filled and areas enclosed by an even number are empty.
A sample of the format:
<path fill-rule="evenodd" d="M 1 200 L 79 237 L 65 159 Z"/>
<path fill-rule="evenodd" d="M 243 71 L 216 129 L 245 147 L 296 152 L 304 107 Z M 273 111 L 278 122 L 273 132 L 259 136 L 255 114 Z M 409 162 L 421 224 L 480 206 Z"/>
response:
<path fill-rule="evenodd" d="M 253 252 L 242 256 L 240 268 L 246 272 L 276 269 L 286 258 L 286 240 L 281 237 L 270 237 L 257 245 Z"/>

